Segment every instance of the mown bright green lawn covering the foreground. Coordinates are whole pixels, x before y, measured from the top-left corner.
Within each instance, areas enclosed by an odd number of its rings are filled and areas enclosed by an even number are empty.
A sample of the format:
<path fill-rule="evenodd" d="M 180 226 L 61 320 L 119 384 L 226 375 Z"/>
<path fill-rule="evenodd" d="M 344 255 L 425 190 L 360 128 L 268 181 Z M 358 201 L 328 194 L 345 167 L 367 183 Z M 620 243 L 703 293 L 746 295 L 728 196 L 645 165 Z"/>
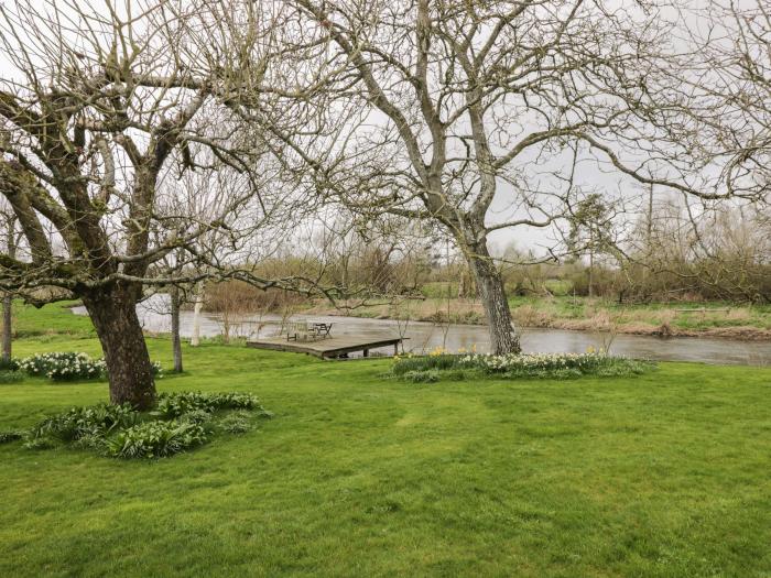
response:
<path fill-rule="evenodd" d="M 15 355 L 99 352 L 46 340 Z M 771 576 L 771 369 L 415 385 L 387 360 L 185 356 L 162 391 L 275 417 L 152 462 L 0 446 L 0 576 Z M 0 429 L 106 399 L 0 385 Z"/>

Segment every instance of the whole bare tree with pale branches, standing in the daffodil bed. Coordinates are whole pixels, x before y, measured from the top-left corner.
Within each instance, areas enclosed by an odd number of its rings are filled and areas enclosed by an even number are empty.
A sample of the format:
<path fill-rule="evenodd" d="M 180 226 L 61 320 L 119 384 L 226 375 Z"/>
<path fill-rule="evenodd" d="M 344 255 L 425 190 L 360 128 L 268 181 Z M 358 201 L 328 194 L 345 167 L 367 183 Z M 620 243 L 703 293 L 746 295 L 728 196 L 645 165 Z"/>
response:
<path fill-rule="evenodd" d="M 496 352 L 520 346 L 492 232 L 564 225 L 593 167 L 595 178 L 612 170 L 728 195 L 694 175 L 693 127 L 676 139 L 670 128 L 685 97 L 655 2 L 287 1 L 325 47 L 319 101 L 357 111 L 340 112 L 349 133 L 324 154 L 294 149 L 348 207 L 433 219 L 452 235 Z"/>

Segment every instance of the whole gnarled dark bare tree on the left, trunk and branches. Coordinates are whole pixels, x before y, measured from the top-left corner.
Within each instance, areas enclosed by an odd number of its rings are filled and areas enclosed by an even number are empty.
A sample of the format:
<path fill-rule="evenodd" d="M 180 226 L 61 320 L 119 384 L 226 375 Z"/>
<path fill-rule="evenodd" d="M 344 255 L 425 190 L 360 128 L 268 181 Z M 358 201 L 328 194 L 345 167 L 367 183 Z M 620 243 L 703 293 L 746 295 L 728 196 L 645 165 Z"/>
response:
<path fill-rule="evenodd" d="M 83 299 L 113 403 L 154 401 L 135 304 L 144 285 L 182 281 L 159 275 L 155 264 L 181 251 L 217 268 L 228 258 L 209 252 L 205 235 L 220 230 L 236 247 L 261 219 L 249 208 L 259 152 L 236 134 L 210 70 L 181 50 L 204 4 L 105 2 L 95 11 L 87 1 L 20 0 L 0 8 L 0 57 L 10 66 L 0 81 L 0 193 L 29 246 L 29 255 L 0 255 L 0 288 L 34 298 L 35 288 L 52 286 Z M 200 192 L 213 207 L 205 219 L 184 206 L 174 219 L 159 214 L 161 181 L 194 170 L 227 173 L 232 186 Z M 258 204 L 254 214 L 262 212 Z M 174 225 L 181 219 L 184 228 Z M 163 232 L 155 241 L 154 228 Z M 191 271 L 184 281 L 200 279 L 200 268 Z"/>

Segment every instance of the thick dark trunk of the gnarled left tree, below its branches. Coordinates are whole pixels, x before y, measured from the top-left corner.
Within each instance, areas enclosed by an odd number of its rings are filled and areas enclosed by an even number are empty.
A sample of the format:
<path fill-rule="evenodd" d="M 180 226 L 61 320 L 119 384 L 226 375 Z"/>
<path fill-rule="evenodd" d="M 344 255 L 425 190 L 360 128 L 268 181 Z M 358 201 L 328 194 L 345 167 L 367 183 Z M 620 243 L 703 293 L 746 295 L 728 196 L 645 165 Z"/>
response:
<path fill-rule="evenodd" d="M 141 288 L 115 285 L 83 296 L 96 328 L 110 379 L 110 402 L 149 410 L 155 403 L 150 355 L 137 317 Z"/>

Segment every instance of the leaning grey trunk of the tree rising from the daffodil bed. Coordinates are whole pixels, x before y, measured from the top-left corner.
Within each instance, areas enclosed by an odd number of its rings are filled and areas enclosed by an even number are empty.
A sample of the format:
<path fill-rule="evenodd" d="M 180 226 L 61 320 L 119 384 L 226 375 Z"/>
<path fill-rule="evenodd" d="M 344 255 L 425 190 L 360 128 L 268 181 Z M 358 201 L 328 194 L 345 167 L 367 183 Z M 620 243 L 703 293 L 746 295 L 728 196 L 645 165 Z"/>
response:
<path fill-rule="evenodd" d="M 520 336 L 511 319 L 503 280 L 490 259 L 487 243 L 481 241 L 471 248 L 471 251 L 467 252 L 467 260 L 487 315 L 490 351 L 495 355 L 521 352 Z"/>

